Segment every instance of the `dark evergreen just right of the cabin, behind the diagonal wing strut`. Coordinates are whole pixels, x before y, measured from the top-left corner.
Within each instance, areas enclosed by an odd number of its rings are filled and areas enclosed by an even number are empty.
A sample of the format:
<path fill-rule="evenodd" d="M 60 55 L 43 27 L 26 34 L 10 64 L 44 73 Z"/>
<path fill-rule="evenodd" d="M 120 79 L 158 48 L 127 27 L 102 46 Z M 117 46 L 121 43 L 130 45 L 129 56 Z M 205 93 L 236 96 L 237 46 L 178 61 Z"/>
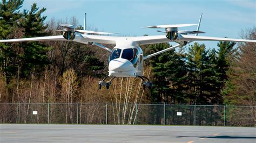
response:
<path fill-rule="evenodd" d="M 170 47 L 169 44 L 149 45 L 148 49 L 154 53 Z M 186 81 L 185 54 L 182 49 L 179 53 L 175 50 L 162 53 L 150 59 L 154 75 L 154 88 L 151 96 L 153 102 L 165 102 L 169 104 L 184 103 L 186 93 L 184 82 Z"/>

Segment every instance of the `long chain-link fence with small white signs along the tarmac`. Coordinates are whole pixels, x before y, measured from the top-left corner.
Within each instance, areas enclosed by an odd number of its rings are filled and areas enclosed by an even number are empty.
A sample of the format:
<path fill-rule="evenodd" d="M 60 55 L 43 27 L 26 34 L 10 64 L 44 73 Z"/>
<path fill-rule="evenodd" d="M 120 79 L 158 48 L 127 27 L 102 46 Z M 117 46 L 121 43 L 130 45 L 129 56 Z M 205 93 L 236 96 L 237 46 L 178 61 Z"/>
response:
<path fill-rule="evenodd" d="M 256 106 L 0 103 L 0 123 L 256 126 Z"/>

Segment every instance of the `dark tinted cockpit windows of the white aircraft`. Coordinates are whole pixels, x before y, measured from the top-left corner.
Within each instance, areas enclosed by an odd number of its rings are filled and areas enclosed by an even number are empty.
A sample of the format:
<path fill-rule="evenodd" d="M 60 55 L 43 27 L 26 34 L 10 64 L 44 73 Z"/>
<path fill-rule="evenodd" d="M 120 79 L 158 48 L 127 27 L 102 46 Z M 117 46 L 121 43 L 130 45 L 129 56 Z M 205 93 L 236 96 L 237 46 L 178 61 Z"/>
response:
<path fill-rule="evenodd" d="M 113 59 L 120 58 L 121 52 L 122 52 L 122 49 L 114 48 L 110 54 L 109 62 Z M 138 55 L 139 55 L 139 52 L 137 48 L 127 48 L 127 49 L 123 49 L 121 58 L 129 60 L 132 62 L 133 65 L 136 65 L 138 61 Z"/>

